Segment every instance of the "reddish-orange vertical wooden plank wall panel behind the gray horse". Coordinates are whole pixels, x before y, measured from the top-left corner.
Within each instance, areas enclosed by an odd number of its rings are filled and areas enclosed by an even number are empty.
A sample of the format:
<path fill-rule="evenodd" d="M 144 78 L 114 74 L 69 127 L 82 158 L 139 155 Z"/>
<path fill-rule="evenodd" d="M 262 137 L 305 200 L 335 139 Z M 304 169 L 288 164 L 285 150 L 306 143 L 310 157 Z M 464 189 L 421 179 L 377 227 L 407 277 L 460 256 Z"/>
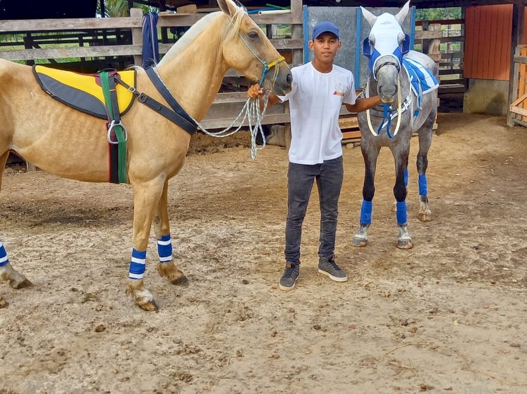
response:
<path fill-rule="evenodd" d="M 509 81 L 512 4 L 467 7 L 464 77 Z"/>

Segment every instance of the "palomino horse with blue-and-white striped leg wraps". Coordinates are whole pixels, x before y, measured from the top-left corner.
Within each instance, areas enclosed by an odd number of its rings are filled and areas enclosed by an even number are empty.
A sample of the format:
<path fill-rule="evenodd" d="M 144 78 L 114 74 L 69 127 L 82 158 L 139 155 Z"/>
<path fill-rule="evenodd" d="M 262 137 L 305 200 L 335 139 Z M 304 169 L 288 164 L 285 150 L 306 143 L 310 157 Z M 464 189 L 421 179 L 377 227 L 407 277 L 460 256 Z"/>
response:
<path fill-rule="evenodd" d="M 261 81 L 277 95 L 287 93 L 292 83 L 289 67 L 280 63 L 278 51 L 245 8 L 233 0 L 219 0 L 218 4 L 221 11 L 195 23 L 157 65 L 164 85 L 196 121 L 207 113 L 229 68 L 254 83 Z M 274 69 L 267 73 L 271 64 Z M 108 182 L 105 121 L 53 100 L 41 90 L 31 67 L 2 60 L 0 86 L 0 181 L 9 151 L 15 151 L 60 177 Z M 144 69 L 138 69 L 136 88 L 164 102 Z M 157 306 L 143 284 L 152 221 L 160 252 L 160 276 L 174 284 L 185 278 L 172 261 L 167 191 L 169 179 L 183 166 L 190 135 L 139 103 L 122 120 L 128 132 L 127 181 L 134 189 L 133 251 L 126 293 L 138 306 L 152 311 Z M 13 269 L 1 243 L 0 278 L 15 288 L 31 285 Z M 6 301 L 0 298 L 0 304 Z"/>

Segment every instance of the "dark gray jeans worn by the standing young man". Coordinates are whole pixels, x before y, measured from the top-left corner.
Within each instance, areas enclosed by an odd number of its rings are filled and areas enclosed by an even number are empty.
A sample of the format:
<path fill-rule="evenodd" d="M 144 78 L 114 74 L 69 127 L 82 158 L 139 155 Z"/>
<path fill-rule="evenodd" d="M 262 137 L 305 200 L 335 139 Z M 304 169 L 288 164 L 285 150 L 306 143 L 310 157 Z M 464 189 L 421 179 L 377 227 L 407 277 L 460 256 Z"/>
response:
<path fill-rule="evenodd" d="M 285 260 L 300 264 L 302 222 L 316 179 L 320 199 L 320 247 L 318 255 L 334 257 L 335 233 L 340 189 L 344 177 L 342 156 L 322 164 L 289 163 L 287 172 L 287 223 L 285 225 Z"/>

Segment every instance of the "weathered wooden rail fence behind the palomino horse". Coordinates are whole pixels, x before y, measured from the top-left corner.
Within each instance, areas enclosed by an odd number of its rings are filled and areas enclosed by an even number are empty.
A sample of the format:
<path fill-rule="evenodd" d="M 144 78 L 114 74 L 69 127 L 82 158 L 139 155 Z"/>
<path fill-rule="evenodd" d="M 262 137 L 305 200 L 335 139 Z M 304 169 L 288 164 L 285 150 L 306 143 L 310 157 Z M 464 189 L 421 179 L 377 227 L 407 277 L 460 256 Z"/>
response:
<path fill-rule="evenodd" d="M 199 11 L 199 10 L 198 10 Z M 207 9 L 212 11 L 212 9 Z M 202 18 L 204 13 L 161 13 L 157 22 L 158 27 L 178 28 L 190 27 L 197 20 Z M 42 20 L 0 20 L 0 34 L 25 34 L 31 37 L 31 34 L 39 32 L 58 32 L 59 34 L 72 32 L 93 32 L 94 30 L 103 30 L 106 36 L 104 42 L 110 43 L 108 36 L 115 36 L 124 31 L 131 32 L 131 43 L 119 43 L 117 45 L 96 45 L 96 39 L 86 39 L 89 46 L 83 46 L 84 42 L 77 41 L 77 46 L 67 46 L 62 48 L 39 48 L 38 44 L 29 42 L 25 49 L 0 50 L 0 57 L 6 60 L 37 60 L 49 59 L 56 61 L 70 57 L 115 57 L 115 56 L 133 56 L 134 63 L 141 65 L 141 53 L 143 49 L 142 33 L 143 11 L 138 8 L 132 8 L 129 17 L 125 18 L 79 18 L 79 19 L 42 19 Z M 259 25 L 266 25 L 268 35 L 273 29 L 271 25 L 286 24 L 292 27 L 292 36 L 288 39 L 275 39 L 272 36 L 271 43 L 289 60 L 289 64 L 294 66 L 302 63 L 304 41 L 302 39 L 302 3 L 301 0 L 291 0 L 291 12 L 279 14 L 251 14 L 251 17 Z M 88 34 L 89 35 L 89 34 Z M 79 38 L 79 34 L 74 35 Z M 82 36 L 82 34 L 81 34 Z M 67 38 L 67 36 L 59 36 Z M 26 40 L 28 41 L 28 40 Z M 72 40 L 73 42 L 74 40 Z M 124 40 L 126 41 L 126 40 Z M 70 44 L 73 45 L 73 44 Z M 160 54 L 167 53 L 171 43 L 160 44 Z M 37 46 L 37 48 L 27 48 L 27 46 Z M 241 75 L 233 70 L 226 74 L 225 81 L 233 79 L 241 81 Z M 245 83 L 247 86 L 247 83 Z M 202 125 L 205 128 L 224 128 L 230 125 L 235 116 L 242 109 L 247 100 L 245 91 L 219 93 L 214 100 L 212 107 L 204 117 Z M 275 105 L 266 111 L 263 117 L 263 124 L 287 123 L 289 122 L 288 107 L 285 104 Z"/>

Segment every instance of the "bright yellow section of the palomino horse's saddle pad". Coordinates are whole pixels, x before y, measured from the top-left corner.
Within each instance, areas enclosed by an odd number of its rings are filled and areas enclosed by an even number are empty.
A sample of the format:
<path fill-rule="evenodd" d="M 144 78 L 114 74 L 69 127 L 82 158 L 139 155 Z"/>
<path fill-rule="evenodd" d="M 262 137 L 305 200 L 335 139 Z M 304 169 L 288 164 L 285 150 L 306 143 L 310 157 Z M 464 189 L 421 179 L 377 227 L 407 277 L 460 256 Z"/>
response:
<path fill-rule="evenodd" d="M 82 90 L 90 95 L 97 97 L 100 102 L 105 102 L 103 88 L 96 83 L 96 79 L 93 74 L 79 74 L 77 72 L 70 72 L 60 69 L 52 69 L 37 65 L 35 71 L 39 74 L 45 74 L 56 81 L 64 83 L 67 86 Z M 136 87 L 136 72 L 134 70 L 120 71 L 119 78 L 129 86 Z M 119 114 L 122 114 L 131 104 L 134 99 L 134 94 L 130 90 L 117 84 L 117 102 L 119 103 Z"/>

